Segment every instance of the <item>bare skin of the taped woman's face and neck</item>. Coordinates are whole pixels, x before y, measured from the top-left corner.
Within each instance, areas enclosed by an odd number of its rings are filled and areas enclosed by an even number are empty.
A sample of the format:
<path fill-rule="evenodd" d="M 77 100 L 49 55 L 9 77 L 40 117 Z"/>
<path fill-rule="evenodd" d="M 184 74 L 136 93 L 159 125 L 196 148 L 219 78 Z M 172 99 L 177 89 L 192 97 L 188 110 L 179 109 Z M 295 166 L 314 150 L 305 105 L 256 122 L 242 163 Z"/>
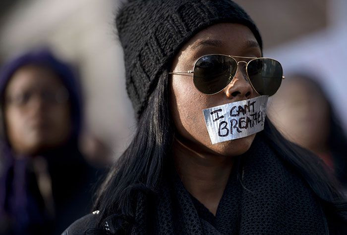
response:
<path fill-rule="evenodd" d="M 221 23 L 200 31 L 187 42 L 175 56 L 172 71 L 192 70 L 199 57 L 212 53 L 261 57 L 261 49 L 246 26 Z M 244 73 L 244 63 L 240 63 L 231 83 L 214 95 L 200 93 L 191 76 L 173 75 L 171 79 L 171 110 L 177 133 L 173 143 L 176 169 L 185 188 L 213 214 L 228 182 L 233 157 L 249 149 L 255 134 L 212 144 L 202 110 L 256 97 L 258 94 Z"/>

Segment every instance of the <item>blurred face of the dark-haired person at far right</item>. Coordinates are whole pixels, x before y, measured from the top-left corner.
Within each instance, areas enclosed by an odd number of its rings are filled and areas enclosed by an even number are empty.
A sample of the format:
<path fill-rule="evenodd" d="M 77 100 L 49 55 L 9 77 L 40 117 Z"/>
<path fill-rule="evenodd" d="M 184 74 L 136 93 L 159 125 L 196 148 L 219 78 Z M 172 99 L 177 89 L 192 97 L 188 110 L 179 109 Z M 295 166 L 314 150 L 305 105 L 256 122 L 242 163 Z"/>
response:
<path fill-rule="evenodd" d="M 300 77 L 289 78 L 275 95 L 269 111 L 287 139 L 317 155 L 329 152 L 329 104 L 311 82 Z"/>

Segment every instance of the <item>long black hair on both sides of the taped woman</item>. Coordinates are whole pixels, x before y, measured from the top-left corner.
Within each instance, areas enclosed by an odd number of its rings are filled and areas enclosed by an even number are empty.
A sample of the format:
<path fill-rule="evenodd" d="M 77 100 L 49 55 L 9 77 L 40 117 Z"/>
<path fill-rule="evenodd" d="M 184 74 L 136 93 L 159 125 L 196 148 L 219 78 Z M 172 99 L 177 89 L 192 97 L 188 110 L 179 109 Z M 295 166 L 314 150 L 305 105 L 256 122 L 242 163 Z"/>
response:
<path fill-rule="evenodd" d="M 137 192 L 155 192 L 166 165 L 174 138 L 169 105 L 169 75 L 163 72 L 148 106 L 138 120 L 137 132 L 119 157 L 100 188 L 95 209 L 100 211 L 99 225 L 108 216 L 121 215 L 131 220 Z M 324 170 L 324 164 L 309 151 L 285 140 L 270 120 L 263 131 L 266 140 L 305 179 L 336 218 L 347 222 L 347 203 L 338 185 Z M 346 223 L 345 222 L 345 223 Z"/>

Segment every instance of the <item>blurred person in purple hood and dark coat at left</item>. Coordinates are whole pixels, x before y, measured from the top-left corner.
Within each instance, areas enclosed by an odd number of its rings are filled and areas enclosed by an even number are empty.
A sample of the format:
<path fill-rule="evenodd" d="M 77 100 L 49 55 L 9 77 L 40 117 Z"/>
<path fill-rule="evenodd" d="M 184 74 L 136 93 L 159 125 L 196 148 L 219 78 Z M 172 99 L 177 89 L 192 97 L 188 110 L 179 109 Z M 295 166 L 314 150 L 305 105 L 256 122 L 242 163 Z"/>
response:
<path fill-rule="evenodd" d="M 48 49 L 2 68 L 0 234 L 60 234 L 88 211 L 94 170 L 78 149 L 77 82 Z"/>

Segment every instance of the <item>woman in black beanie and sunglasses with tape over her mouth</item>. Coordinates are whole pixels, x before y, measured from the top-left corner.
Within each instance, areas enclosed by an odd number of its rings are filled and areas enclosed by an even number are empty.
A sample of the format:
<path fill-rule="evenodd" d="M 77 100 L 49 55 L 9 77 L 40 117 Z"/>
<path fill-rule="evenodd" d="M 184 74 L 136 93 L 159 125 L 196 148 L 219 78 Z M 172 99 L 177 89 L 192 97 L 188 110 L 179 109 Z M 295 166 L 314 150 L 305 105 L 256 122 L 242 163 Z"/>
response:
<path fill-rule="evenodd" d="M 241 139 L 209 138 L 203 110 L 253 102 L 281 83 L 278 62 L 249 62 L 262 56 L 262 41 L 243 9 L 230 0 L 132 0 L 116 25 L 138 130 L 97 211 L 65 234 L 344 233 L 346 202 L 322 162 L 268 120 Z M 261 76 L 266 67 L 281 70 L 274 83 Z"/>

